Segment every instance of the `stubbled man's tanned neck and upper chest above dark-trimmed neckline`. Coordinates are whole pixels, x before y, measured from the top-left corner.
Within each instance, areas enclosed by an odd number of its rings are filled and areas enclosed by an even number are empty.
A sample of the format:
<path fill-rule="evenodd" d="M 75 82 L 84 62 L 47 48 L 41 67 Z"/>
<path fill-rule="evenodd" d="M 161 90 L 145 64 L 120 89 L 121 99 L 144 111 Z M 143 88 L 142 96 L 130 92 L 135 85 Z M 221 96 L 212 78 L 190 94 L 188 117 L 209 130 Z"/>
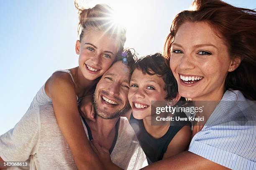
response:
<path fill-rule="evenodd" d="M 100 136 L 102 138 L 108 138 L 111 133 L 115 132 L 115 125 L 117 124 L 119 117 L 114 119 L 103 119 L 99 116 L 96 117 L 96 122 L 88 121 L 93 135 Z"/>

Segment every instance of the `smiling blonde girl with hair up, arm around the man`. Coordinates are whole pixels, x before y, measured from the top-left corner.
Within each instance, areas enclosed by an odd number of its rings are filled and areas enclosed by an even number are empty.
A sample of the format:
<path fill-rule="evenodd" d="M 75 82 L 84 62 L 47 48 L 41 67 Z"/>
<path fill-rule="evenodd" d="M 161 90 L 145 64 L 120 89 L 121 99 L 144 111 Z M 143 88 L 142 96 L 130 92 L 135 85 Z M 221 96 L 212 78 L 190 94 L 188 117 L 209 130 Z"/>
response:
<path fill-rule="evenodd" d="M 52 103 L 62 134 L 67 140 L 79 169 L 102 169 L 100 161 L 91 149 L 82 126 L 77 100 L 93 93 L 97 80 L 123 51 L 125 29 L 111 25 L 112 9 L 108 5 L 96 5 L 79 9 L 81 34 L 75 51 L 79 66 L 58 70 L 46 81 L 34 97 L 29 109 Z"/>

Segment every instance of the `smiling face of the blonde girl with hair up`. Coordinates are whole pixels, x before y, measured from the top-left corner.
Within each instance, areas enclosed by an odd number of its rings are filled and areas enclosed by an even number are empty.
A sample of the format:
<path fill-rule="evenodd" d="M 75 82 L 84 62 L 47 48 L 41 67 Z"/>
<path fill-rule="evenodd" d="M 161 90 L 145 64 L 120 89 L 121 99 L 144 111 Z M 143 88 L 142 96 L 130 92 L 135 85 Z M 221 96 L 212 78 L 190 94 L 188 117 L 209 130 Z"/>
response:
<path fill-rule="evenodd" d="M 109 35 L 87 31 L 82 41 L 76 43 L 79 69 L 83 76 L 89 80 L 102 76 L 115 60 L 118 48 L 118 43 Z"/>

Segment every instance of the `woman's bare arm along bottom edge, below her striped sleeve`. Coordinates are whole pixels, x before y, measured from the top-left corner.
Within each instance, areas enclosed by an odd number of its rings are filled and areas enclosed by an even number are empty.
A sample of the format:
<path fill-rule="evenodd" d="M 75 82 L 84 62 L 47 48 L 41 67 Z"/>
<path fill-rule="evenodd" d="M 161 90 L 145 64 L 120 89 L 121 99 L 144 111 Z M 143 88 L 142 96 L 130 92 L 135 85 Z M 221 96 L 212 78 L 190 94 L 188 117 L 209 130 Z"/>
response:
<path fill-rule="evenodd" d="M 185 151 L 148 165 L 141 170 L 229 170 L 227 167 Z"/>

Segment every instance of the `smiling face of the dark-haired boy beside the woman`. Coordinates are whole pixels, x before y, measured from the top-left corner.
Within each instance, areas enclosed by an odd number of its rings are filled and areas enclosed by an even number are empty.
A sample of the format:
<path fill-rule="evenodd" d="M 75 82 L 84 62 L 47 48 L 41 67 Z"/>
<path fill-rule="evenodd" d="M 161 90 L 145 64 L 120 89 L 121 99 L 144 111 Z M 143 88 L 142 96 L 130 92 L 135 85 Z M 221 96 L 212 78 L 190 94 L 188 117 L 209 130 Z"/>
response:
<path fill-rule="evenodd" d="M 144 119 L 151 116 L 151 101 L 164 101 L 167 96 L 164 90 L 164 80 L 155 75 L 142 73 L 141 70 L 133 71 L 128 100 L 133 109 L 133 117 Z"/>

